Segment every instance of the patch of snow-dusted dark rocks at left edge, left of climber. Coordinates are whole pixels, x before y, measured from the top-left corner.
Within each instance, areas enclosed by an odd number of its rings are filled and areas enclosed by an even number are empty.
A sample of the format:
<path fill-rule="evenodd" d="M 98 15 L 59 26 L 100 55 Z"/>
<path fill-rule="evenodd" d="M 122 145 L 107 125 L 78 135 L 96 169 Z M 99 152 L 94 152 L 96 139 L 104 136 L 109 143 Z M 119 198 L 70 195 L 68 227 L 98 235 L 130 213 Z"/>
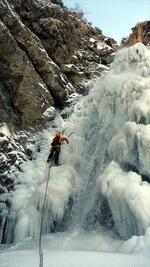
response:
<path fill-rule="evenodd" d="M 0 187 L 13 189 L 16 172 L 22 171 L 21 164 L 33 160 L 35 152 L 40 152 L 35 133 L 15 132 L 6 123 L 0 125 Z"/>

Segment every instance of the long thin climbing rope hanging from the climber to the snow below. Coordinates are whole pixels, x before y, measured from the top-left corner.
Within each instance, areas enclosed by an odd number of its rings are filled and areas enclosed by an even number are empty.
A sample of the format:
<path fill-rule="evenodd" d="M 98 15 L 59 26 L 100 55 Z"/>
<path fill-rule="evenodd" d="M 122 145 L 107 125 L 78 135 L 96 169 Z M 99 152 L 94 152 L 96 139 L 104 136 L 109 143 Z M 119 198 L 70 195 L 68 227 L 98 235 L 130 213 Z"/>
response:
<path fill-rule="evenodd" d="M 44 195 L 44 201 L 43 201 L 43 206 L 42 206 L 42 215 L 41 215 L 41 224 L 40 224 L 40 235 L 39 235 L 39 256 L 40 256 L 40 264 L 39 264 L 39 267 L 43 267 L 42 228 L 43 228 L 43 218 L 44 218 L 45 205 L 46 205 L 47 192 L 48 192 L 48 183 L 49 183 L 49 177 L 50 177 L 50 168 L 51 168 L 51 163 L 49 164 L 49 167 L 48 167 L 47 182 L 46 182 L 45 195 Z"/>

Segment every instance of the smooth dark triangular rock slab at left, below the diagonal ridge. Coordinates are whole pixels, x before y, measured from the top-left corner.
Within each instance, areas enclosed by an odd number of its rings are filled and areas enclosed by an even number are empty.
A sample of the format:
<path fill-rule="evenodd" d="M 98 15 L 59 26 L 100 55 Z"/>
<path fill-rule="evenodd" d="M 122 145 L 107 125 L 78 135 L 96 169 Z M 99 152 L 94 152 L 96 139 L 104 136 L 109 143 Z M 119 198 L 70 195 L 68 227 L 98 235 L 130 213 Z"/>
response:
<path fill-rule="evenodd" d="M 26 54 L 0 21 L 0 79 L 11 99 L 12 117 L 17 123 L 34 125 L 53 99 Z"/>

